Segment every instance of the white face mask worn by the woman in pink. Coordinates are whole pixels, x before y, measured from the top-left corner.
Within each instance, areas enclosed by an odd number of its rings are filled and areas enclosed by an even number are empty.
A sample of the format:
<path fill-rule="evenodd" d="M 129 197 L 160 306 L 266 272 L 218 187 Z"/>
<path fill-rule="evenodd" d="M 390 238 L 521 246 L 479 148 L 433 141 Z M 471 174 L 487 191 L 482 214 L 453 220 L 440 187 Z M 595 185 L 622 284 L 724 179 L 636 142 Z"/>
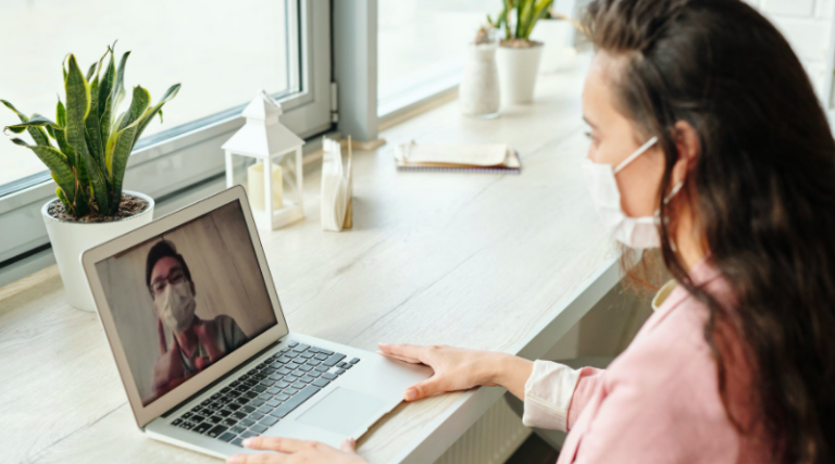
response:
<path fill-rule="evenodd" d="M 644 154 L 656 142 L 658 142 L 658 137 L 652 137 L 614 168 L 609 164 L 598 164 L 588 159 L 583 161 L 583 174 L 586 176 L 597 215 L 603 225 L 611 229 L 614 238 L 630 248 L 644 249 L 661 246 L 661 239 L 658 235 L 659 212 L 656 211 L 653 216 L 627 216 L 621 206 L 621 192 L 618 190 L 614 175 Z M 682 185 L 683 183 L 678 183 L 673 187 L 670 195 L 664 198 L 664 203 L 678 192 Z"/>

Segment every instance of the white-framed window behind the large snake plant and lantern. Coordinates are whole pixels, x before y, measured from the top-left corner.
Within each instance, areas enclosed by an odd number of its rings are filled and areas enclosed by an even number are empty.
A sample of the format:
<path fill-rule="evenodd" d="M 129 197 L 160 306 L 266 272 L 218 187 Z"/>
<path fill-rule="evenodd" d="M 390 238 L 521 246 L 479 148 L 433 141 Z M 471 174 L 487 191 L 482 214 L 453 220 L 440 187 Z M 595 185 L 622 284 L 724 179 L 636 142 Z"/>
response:
<path fill-rule="evenodd" d="M 320 0 L 15 0 L 0 3 L 0 98 L 54 118 L 67 52 L 87 70 L 115 39 L 133 53 L 125 87 L 183 89 L 130 156 L 125 187 L 159 199 L 224 172 L 221 145 L 261 88 L 302 137 L 328 130 L 329 2 Z M 2 126 L 17 122 L 0 108 Z M 54 184 L 37 156 L 0 137 L 0 267 L 48 243 L 40 206 Z"/>

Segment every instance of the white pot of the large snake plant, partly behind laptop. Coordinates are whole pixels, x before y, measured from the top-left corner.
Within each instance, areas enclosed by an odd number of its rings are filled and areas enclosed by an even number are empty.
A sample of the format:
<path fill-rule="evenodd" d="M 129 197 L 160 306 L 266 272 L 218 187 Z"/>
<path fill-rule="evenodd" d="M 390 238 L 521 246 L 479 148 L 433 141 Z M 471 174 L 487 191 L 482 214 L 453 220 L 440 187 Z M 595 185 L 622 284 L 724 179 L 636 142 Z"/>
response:
<path fill-rule="evenodd" d="M 144 226 L 153 218 L 152 198 L 135 191 L 125 191 L 125 193 L 147 201 L 148 208 L 130 217 L 109 223 L 75 223 L 52 217 L 49 214 L 49 205 L 58 199 L 48 201 L 40 210 L 43 223 L 47 225 L 49 241 L 52 242 L 52 251 L 55 253 L 58 269 L 61 272 L 61 280 L 64 281 L 64 296 L 71 305 L 79 310 L 96 311 L 92 293 L 90 293 L 87 285 L 87 276 L 82 268 L 82 253 L 89 248 Z"/>

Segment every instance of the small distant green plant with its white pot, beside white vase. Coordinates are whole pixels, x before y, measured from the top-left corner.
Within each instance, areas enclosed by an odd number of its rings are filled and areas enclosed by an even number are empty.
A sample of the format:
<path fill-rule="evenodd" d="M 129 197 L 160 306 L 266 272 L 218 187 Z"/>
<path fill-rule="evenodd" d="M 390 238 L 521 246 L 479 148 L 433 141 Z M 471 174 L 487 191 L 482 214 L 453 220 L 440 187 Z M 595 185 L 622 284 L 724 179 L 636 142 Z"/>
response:
<path fill-rule="evenodd" d="M 504 27 L 504 38 L 499 43 L 496 61 L 499 68 L 501 100 L 504 103 L 529 103 L 534 99 L 534 87 L 543 54 L 543 43 L 531 40 L 536 22 L 548 13 L 553 0 L 503 0 L 502 10 L 493 27 Z M 511 25 L 511 13 L 515 24 Z"/>

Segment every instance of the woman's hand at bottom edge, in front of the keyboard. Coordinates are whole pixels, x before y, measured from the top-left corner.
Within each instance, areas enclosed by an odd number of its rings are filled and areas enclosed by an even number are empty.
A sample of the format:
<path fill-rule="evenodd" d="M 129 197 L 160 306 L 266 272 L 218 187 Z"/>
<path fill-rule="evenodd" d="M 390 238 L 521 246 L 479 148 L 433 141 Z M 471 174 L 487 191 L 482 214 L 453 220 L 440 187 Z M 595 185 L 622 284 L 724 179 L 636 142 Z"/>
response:
<path fill-rule="evenodd" d="M 350 438 L 342 441 L 338 450 L 317 441 L 277 437 L 248 438 L 244 446 L 277 452 L 234 454 L 226 460 L 227 464 L 367 464 L 357 454 L 357 442 Z"/>

